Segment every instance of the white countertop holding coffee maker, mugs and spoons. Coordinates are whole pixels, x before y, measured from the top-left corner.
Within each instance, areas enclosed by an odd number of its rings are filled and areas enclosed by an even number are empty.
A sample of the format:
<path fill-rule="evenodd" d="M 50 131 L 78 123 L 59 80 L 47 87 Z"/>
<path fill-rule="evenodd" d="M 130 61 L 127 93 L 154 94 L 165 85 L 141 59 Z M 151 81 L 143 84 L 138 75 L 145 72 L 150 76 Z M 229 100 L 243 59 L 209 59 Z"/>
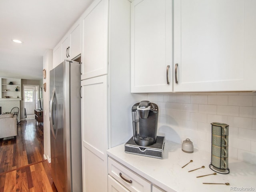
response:
<path fill-rule="evenodd" d="M 256 191 L 255 165 L 229 158 L 229 174 L 217 173 L 217 175 L 196 178 L 196 176 L 214 173 L 209 168 L 211 154 L 196 148 L 194 153 L 185 153 L 181 150 L 181 144 L 170 141 L 165 142 L 163 159 L 125 153 L 124 144 L 107 150 L 107 154 L 168 192 Z M 182 168 L 190 160 L 193 162 Z M 201 166 L 205 168 L 188 172 Z M 202 184 L 203 182 L 228 182 L 230 185 Z"/>

